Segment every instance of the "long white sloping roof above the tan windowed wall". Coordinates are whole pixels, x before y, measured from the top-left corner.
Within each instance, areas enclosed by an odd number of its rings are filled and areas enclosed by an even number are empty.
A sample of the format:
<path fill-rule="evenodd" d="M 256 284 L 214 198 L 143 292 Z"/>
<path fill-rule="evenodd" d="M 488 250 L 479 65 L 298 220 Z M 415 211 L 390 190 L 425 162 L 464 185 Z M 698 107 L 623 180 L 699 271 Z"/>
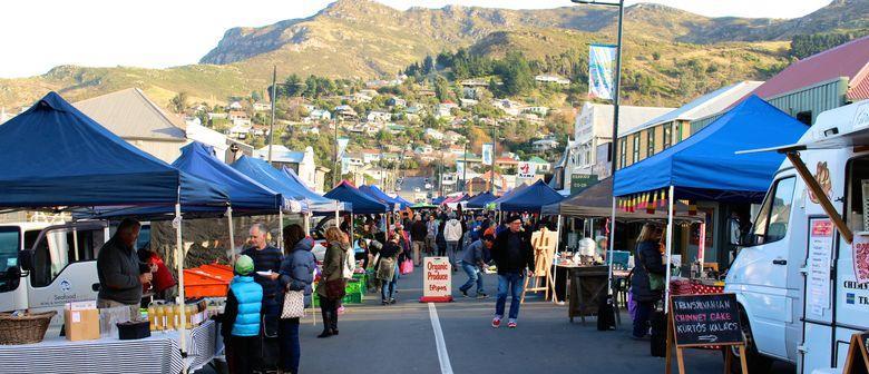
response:
<path fill-rule="evenodd" d="M 654 118 L 629 131 L 626 131 L 624 135 L 637 132 L 646 128 L 674 120 L 690 121 L 714 115 L 726 109 L 733 102 L 736 102 L 736 100 L 741 99 L 761 85 L 763 85 L 762 81 L 748 80 L 719 88 L 671 112 L 667 112 L 666 115 Z"/>

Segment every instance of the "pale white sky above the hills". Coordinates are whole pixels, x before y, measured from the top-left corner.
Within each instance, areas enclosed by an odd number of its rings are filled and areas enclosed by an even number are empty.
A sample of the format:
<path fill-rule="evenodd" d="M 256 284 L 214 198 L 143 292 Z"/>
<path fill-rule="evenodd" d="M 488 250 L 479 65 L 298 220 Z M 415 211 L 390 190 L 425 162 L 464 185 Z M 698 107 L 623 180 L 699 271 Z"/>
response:
<path fill-rule="evenodd" d="M 446 4 L 511 9 L 569 7 L 569 0 L 378 0 L 398 9 Z M 165 68 L 195 63 L 236 26 L 315 13 L 331 0 L 16 0 L 3 4 L 0 77 L 40 75 L 58 65 Z M 627 0 L 627 3 L 639 1 Z M 722 17 L 794 18 L 830 0 L 651 0 Z"/>

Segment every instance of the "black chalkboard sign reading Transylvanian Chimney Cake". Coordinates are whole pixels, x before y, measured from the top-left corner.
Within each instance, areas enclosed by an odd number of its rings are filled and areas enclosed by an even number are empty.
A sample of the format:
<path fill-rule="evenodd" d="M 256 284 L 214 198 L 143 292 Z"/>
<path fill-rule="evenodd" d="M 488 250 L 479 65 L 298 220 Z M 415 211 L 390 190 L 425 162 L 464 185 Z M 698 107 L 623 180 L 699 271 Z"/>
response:
<path fill-rule="evenodd" d="M 734 294 L 672 296 L 670 306 L 677 347 L 745 342 Z"/>

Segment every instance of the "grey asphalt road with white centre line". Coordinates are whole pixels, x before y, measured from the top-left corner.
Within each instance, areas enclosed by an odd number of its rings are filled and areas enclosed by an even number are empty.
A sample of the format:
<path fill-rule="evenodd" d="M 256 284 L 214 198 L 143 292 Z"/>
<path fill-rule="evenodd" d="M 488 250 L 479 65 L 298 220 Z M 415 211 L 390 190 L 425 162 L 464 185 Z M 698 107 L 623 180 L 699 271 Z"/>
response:
<path fill-rule="evenodd" d="M 381 306 L 379 294 L 368 294 L 363 305 L 348 305 L 339 317 L 339 336 L 316 338 L 322 331 L 319 314 L 316 322 L 310 316 L 303 319 L 301 373 L 664 372 L 664 358 L 648 354 L 648 341 L 628 338 L 627 314 L 617 331 L 598 332 L 594 318 L 586 325 L 578 318 L 572 324 L 566 306 L 529 296 L 518 328 L 507 328 L 505 322 L 496 329 L 490 326 L 495 298 L 462 297 L 458 287 L 466 279 L 462 272 L 453 273 L 457 301 L 432 304 L 446 354 L 439 354 L 429 304 L 418 302 L 422 270 L 417 268 L 399 280 L 398 304 Z M 485 289 L 494 295 L 496 288 L 496 276 L 486 275 Z M 723 372 L 719 351 L 686 350 L 685 364 L 689 373 Z M 774 366 L 774 373 L 793 372 L 789 365 Z"/>

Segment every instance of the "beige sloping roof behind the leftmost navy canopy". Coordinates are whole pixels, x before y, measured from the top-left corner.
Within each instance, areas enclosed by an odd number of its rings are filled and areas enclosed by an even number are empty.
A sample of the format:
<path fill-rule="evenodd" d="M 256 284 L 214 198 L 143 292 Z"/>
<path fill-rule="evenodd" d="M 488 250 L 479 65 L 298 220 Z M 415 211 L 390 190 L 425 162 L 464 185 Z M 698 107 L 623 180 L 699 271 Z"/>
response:
<path fill-rule="evenodd" d="M 125 139 L 187 139 L 184 121 L 167 115 L 138 88 L 106 94 L 72 106 Z"/>

